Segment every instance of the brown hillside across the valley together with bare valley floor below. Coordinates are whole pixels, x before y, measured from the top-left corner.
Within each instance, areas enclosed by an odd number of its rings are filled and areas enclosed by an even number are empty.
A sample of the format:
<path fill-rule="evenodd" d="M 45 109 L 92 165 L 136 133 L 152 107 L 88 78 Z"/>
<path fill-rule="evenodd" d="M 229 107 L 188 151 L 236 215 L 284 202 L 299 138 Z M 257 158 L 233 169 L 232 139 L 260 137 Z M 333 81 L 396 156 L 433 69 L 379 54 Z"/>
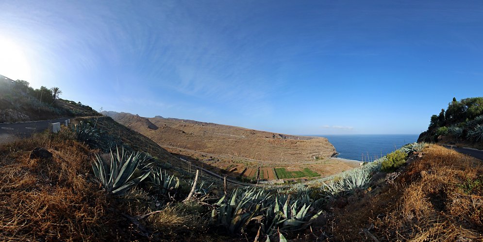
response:
<path fill-rule="evenodd" d="M 143 118 L 103 112 L 152 139 L 171 153 L 191 156 L 246 179 L 290 179 L 332 174 L 358 164 L 329 159 L 335 148 L 321 137 L 293 136 L 241 127 L 172 118 Z M 273 168 L 284 168 L 286 172 Z M 315 171 L 298 173 L 303 169 Z M 218 170 L 217 170 L 218 171 Z M 292 174 L 291 174 L 292 173 Z"/>

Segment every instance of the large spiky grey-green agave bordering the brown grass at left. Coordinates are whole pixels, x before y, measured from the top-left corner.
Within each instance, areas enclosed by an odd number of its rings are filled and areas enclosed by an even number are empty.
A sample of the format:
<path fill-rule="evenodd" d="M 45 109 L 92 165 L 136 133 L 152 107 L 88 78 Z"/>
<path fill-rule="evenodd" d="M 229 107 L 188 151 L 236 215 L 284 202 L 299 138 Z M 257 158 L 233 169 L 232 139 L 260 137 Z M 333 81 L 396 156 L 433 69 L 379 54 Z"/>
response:
<path fill-rule="evenodd" d="M 109 165 L 96 154 L 97 159 L 92 163 L 92 170 L 104 190 L 112 194 L 123 195 L 149 176 L 151 164 L 144 164 L 145 157 L 139 152 L 128 155 L 124 152 L 124 147 L 121 153 L 117 147 L 116 151 L 116 154 L 111 151 Z M 140 174 L 133 177 L 136 171 L 140 171 Z"/>

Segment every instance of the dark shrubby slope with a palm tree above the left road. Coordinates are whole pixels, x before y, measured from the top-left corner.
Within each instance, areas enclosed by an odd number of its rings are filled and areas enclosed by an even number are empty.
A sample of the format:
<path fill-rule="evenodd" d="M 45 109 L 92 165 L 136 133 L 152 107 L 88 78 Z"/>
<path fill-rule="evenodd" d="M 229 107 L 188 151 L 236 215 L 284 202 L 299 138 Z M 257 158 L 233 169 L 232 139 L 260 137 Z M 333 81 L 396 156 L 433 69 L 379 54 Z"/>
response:
<path fill-rule="evenodd" d="M 45 86 L 33 89 L 26 81 L 0 75 L 0 123 L 97 115 L 99 113 L 87 105 L 54 100 L 52 91 Z"/>

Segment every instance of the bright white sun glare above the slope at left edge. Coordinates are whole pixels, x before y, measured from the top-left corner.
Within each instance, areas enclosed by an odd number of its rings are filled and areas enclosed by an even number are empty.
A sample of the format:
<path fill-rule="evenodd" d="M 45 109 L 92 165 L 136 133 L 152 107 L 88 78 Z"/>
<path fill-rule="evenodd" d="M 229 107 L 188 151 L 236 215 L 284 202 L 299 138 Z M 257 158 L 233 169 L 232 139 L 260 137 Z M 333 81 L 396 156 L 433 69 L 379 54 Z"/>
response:
<path fill-rule="evenodd" d="M 10 79 L 31 82 L 30 65 L 22 48 L 9 39 L 0 37 L 0 74 Z"/>

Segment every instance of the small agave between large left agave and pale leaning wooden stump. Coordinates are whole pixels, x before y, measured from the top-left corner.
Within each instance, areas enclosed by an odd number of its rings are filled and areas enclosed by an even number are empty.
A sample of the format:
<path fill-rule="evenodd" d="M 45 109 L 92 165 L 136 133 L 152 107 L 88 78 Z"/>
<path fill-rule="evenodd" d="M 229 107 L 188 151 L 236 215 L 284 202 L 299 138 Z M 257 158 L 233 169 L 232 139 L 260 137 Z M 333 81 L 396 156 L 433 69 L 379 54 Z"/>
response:
<path fill-rule="evenodd" d="M 155 168 L 149 175 L 152 189 L 158 195 L 173 197 L 180 187 L 180 179 L 174 175 L 163 175 L 161 168 Z M 169 194 L 173 192 L 174 194 Z"/>

